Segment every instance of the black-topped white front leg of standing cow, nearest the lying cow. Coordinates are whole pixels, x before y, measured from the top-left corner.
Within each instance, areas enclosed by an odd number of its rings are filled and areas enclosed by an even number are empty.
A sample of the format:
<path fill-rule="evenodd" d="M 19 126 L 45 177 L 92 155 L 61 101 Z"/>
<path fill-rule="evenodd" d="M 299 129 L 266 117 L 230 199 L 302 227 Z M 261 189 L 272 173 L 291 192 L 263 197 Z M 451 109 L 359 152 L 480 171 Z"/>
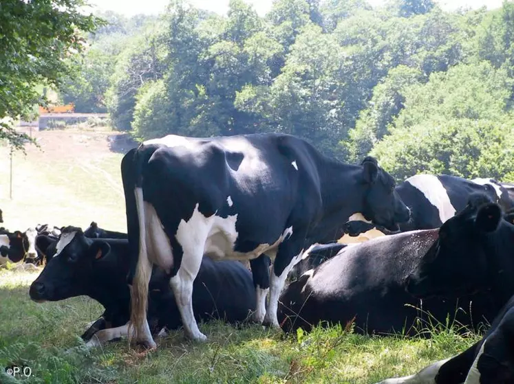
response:
<path fill-rule="evenodd" d="M 270 300 L 263 321 L 265 326 L 280 328 L 277 319 L 279 296 L 283 285 L 286 283 L 288 273 L 291 271 L 292 267 L 295 267 L 295 264 L 301 260 L 304 239 L 305 232 L 297 232 L 297 234 L 293 233 L 290 238 L 284 240 L 279 245 L 270 278 Z"/>

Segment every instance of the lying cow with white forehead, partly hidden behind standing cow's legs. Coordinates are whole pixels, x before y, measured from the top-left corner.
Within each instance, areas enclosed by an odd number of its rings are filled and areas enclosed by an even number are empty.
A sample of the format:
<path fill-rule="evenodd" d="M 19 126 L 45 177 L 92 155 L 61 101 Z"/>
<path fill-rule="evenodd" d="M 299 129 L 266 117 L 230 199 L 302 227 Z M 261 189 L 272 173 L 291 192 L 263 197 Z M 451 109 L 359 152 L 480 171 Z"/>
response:
<path fill-rule="evenodd" d="M 103 315 L 82 335 L 89 346 L 127 336 L 130 291 L 127 239 L 92 239 L 80 228 L 63 229 L 56 254 L 30 286 L 36 302 L 87 295 L 105 307 Z M 182 325 L 180 312 L 164 271 L 153 269 L 148 319 L 152 334 Z M 256 297 L 250 271 L 230 260 L 202 259 L 193 284 L 193 314 L 197 320 L 244 321 L 255 310 Z M 108 328 L 108 329 L 107 329 Z M 97 332 L 98 331 L 98 332 Z M 96 335 L 92 339 L 92 336 Z"/>

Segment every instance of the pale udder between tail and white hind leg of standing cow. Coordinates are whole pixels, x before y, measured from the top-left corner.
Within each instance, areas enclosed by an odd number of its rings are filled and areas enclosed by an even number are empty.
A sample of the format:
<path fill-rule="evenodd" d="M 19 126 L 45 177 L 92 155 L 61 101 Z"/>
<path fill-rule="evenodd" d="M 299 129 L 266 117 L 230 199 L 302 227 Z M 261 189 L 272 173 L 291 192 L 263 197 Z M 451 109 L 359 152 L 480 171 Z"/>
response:
<path fill-rule="evenodd" d="M 169 273 L 173 267 L 173 251 L 169 237 L 164 232 L 164 226 L 157 215 L 155 207 L 147 201 L 143 202 L 143 207 L 149 259 Z"/>

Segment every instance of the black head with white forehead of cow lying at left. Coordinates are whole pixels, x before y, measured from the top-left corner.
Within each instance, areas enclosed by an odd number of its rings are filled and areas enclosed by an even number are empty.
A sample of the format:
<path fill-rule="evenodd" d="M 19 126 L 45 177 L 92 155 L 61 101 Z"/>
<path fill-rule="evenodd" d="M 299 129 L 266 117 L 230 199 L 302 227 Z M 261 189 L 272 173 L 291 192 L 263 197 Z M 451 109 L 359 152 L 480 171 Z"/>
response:
<path fill-rule="evenodd" d="M 30 285 L 30 298 L 36 302 L 89 294 L 94 268 L 110 251 L 107 242 L 86 238 L 78 227 L 63 228 L 55 248 L 52 259 Z"/>

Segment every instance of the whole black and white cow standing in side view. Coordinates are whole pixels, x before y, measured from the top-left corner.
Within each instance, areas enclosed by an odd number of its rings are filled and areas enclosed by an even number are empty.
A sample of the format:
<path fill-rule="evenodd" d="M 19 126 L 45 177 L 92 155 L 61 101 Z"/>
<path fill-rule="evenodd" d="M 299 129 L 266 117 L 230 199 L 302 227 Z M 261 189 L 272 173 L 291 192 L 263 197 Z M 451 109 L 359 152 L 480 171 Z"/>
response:
<path fill-rule="evenodd" d="M 151 348 L 145 308 L 153 264 L 171 276 L 186 335 L 204 341 L 191 307 L 204 252 L 251 260 L 259 271 L 253 274 L 254 318 L 278 327 L 279 293 L 303 250 L 339 238 L 356 212 L 390 229 L 409 218 L 394 179 L 376 159 L 339 163 L 292 135 L 169 135 L 130 150 L 121 172 L 132 260 L 131 325 L 136 342 Z M 268 308 L 263 254 L 274 260 Z"/>

